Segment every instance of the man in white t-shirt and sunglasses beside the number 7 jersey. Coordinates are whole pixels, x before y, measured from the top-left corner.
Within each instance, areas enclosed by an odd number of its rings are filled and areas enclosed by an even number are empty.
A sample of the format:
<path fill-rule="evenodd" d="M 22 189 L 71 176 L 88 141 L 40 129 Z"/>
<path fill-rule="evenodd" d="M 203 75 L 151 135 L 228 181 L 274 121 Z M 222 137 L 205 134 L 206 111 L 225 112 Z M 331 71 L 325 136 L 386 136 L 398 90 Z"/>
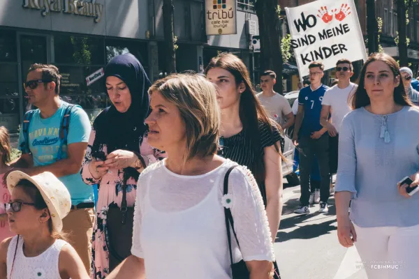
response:
<path fill-rule="evenodd" d="M 339 129 L 344 116 L 351 112 L 349 103 L 351 96 L 358 88 L 357 84 L 351 82 L 353 66 L 348 59 L 340 59 L 336 63 L 336 78 L 339 82 L 328 89 L 323 96 L 320 116 L 321 126 L 328 129 L 329 139 L 329 162 L 330 173 L 337 172 L 337 144 L 339 142 Z M 328 121 L 332 113 L 332 121 Z"/>

